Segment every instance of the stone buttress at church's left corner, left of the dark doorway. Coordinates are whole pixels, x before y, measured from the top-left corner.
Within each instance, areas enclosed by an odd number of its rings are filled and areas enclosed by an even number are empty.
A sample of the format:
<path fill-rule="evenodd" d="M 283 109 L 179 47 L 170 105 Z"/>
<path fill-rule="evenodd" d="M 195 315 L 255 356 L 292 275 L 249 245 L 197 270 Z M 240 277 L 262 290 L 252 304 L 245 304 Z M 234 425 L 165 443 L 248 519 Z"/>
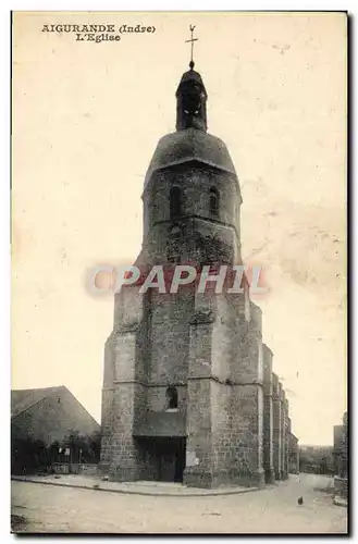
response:
<path fill-rule="evenodd" d="M 125 287 L 114 305 L 114 327 L 104 356 L 100 468 L 113 480 L 136 480 L 143 459 L 133 429 L 146 409 L 144 386 L 136 381 L 144 296 L 138 287 Z"/>

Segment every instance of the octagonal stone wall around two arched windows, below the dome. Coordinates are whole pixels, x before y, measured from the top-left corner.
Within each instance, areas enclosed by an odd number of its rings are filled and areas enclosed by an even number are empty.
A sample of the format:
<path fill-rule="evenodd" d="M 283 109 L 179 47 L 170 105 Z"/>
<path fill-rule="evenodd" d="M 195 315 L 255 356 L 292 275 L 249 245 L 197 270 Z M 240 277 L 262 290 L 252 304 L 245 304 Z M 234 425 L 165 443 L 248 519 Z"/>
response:
<path fill-rule="evenodd" d="M 170 217 L 172 187 L 181 190 L 180 219 Z M 220 193 L 218 215 L 210 212 L 211 187 Z M 148 263 L 166 262 L 173 244 L 181 262 L 240 261 L 239 202 L 238 184 L 230 173 L 196 162 L 157 171 L 144 194 L 144 252 Z"/>

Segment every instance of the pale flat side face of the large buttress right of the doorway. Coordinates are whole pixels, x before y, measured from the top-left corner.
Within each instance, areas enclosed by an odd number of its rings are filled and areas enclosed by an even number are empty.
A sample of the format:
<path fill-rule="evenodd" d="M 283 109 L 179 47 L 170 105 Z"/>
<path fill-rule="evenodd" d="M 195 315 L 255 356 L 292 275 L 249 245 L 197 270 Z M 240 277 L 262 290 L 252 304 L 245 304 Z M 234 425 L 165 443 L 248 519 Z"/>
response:
<path fill-rule="evenodd" d="M 215 298 L 212 331 L 214 482 L 262 485 L 260 313 L 245 320 L 243 295 Z"/>

